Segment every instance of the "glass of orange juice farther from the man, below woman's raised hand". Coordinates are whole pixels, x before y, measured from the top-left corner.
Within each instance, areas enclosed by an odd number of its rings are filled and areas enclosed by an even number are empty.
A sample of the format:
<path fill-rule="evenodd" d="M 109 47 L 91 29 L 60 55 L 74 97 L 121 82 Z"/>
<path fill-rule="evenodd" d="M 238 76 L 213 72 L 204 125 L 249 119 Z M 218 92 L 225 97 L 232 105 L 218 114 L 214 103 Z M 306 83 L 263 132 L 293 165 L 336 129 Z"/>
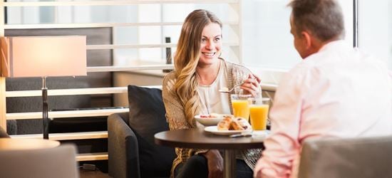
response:
<path fill-rule="evenodd" d="M 252 95 L 232 94 L 230 97 L 234 117 L 242 117 L 249 122 L 249 105 L 252 104 Z"/>

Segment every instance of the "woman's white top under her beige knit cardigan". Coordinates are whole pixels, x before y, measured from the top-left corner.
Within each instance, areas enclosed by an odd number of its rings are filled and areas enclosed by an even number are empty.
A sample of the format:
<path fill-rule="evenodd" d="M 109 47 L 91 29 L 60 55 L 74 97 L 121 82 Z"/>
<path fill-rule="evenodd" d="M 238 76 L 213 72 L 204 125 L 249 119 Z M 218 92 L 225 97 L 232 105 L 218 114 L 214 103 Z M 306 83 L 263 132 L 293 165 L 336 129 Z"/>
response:
<path fill-rule="evenodd" d="M 217 78 L 211 85 L 199 84 L 197 88 L 202 103 L 200 114 L 230 114 L 228 94 L 220 93 L 220 88 L 227 88 L 226 66 L 223 63 L 220 65 Z"/>

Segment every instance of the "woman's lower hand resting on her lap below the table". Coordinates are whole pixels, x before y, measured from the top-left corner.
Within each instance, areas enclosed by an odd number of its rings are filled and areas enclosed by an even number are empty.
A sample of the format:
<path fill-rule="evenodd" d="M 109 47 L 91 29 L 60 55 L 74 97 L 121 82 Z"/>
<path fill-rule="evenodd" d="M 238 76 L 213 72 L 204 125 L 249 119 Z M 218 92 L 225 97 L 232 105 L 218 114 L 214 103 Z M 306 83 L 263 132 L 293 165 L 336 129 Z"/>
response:
<path fill-rule="evenodd" d="M 218 150 L 209 150 L 205 152 L 207 158 L 208 178 L 223 177 L 223 158 Z"/>

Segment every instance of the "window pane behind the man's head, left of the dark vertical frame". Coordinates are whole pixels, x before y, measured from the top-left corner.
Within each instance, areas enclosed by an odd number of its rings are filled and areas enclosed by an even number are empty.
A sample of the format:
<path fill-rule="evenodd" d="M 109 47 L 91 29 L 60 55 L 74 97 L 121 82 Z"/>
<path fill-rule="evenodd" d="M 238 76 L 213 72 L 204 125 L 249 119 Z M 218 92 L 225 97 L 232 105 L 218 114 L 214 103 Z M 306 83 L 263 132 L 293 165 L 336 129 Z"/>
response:
<path fill-rule="evenodd" d="M 353 3 L 339 0 L 344 12 L 346 41 L 353 42 Z M 301 61 L 293 45 L 285 0 L 242 1 L 242 62 L 265 83 L 278 83 L 287 70 Z"/>

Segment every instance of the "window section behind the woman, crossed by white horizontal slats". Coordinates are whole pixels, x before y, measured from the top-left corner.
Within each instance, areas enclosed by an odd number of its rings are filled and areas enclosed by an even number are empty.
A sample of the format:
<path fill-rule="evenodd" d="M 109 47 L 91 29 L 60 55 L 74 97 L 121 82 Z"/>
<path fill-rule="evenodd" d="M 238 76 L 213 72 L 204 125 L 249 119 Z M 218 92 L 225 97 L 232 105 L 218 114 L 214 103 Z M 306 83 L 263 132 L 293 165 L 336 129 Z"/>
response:
<path fill-rule="evenodd" d="M 105 6 L 96 6 L 96 2 L 56 1 L 58 4 L 70 3 L 70 6 L 30 6 L 27 4 L 33 1 L 24 2 L 24 6 L 7 7 L 6 23 L 16 26 L 43 23 L 106 23 L 106 26 L 111 26 L 116 23 L 113 25 L 113 45 L 118 46 L 113 49 L 113 65 L 157 64 L 165 63 L 165 46 L 175 51 L 175 44 L 165 44 L 165 39 L 170 38 L 170 43 L 177 43 L 181 23 L 187 14 L 195 9 L 207 9 L 217 14 L 224 23 L 224 57 L 234 62 L 240 60 L 237 11 L 240 1 L 167 1 L 167 4 L 165 1 L 130 1 L 125 5 L 116 4 L 118 1 L 106 1 Z"/>

